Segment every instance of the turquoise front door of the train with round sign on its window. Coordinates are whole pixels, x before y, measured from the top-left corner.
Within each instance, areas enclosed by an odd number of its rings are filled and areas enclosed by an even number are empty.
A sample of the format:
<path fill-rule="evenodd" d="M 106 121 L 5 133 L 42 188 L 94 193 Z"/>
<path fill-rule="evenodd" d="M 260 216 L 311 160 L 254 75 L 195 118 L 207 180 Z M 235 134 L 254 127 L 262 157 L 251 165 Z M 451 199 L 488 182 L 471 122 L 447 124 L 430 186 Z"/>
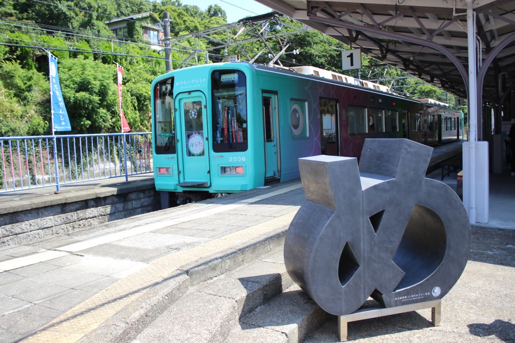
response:
<path fill-rule="evenodd" d="M 205 97 L 201 92 L 181 93 L 176 97 L 175 107 L 180 128 L 177 149 L 182 155 L 179 185 L 208 187 L 211 178 Z"/>

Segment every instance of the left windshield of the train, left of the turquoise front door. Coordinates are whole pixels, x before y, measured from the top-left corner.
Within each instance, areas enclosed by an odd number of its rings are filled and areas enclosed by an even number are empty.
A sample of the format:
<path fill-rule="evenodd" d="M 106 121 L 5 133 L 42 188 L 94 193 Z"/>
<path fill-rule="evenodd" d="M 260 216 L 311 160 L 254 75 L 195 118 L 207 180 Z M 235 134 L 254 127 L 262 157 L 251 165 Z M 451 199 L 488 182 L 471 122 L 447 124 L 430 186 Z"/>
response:
<path fill-rule="evenodd" d="M 160 81 L 154 88 L 154 128 L 156 154 L 175 154 L 174 78 Z"/>

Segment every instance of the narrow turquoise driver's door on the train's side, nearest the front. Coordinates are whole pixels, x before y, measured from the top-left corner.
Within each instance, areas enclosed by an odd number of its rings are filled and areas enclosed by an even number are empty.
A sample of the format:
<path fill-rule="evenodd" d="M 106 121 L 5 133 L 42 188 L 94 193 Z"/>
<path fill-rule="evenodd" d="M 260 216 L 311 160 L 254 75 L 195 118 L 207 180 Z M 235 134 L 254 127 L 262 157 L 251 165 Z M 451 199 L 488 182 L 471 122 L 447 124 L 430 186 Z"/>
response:
<path fill-rule="evenodd" d="M 263 134 L 265 138 L 265 178 L 279 178 L 279 137 L 277 94 L 263 93 Z"/>

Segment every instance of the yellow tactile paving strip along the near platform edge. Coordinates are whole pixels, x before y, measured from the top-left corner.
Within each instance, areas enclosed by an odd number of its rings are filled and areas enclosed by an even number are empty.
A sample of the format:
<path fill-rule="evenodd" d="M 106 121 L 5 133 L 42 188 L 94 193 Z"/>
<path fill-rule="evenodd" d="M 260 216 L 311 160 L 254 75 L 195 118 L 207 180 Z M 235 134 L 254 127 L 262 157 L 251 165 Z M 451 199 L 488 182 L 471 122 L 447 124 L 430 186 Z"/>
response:
<path fill-rule="evenodd" d="M 281 194 L 301 186 L 291 186 L 263 196 L 246 199 L 240 203 L 253 203 L 263 198 Z M 24 342 L 75 342 L 116 314 L 147 288 L 172 275 L 178 267 L 208 257 L 217 252 L 235 247 L 263 233 L 284 227 L 293 220 L 294 210 L 276 219 L 230 233 L 227 236 L 183 249 L 150 262 L 145 268 L 120 279 L 91 298 L 75 306 L 41 330 L 24 339 Z"/>

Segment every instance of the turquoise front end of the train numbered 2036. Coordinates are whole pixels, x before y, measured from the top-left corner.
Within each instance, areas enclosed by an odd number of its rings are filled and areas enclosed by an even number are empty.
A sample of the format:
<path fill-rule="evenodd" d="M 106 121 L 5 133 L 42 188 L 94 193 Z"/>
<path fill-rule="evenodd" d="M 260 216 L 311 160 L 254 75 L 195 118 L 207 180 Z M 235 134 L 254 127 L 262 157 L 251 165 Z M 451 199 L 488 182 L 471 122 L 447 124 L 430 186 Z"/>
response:
<path fill-rule="evenodd" d="M 153 165 L 162 207 L 263 185 L 262 123 L 249 115 L 253 69 L 221 63 L 152 82 Z M 263 149 L 261 149 L 262 151 Z"/>

